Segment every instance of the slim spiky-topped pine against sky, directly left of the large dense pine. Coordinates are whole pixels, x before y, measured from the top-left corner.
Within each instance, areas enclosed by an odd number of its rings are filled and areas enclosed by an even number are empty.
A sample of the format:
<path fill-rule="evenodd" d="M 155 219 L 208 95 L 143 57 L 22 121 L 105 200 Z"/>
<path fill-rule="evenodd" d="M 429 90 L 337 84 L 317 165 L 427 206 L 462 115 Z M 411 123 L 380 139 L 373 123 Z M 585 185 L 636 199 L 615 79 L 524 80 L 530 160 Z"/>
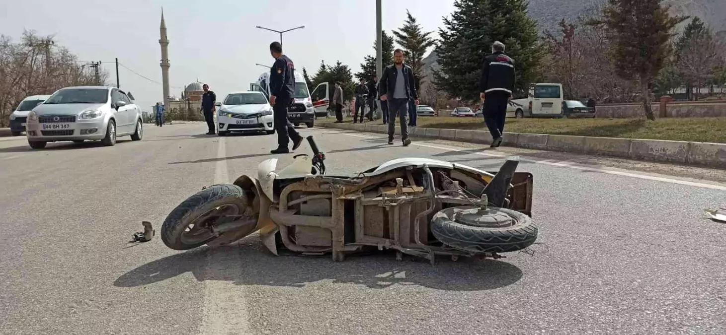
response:
<path fill-rule="evenodd" d="M 422 73 L 423 55 L 426 51 L 436 44 L 430 35 L 432 31 L 424 32 L 421 25 L 416 22 L 416 18 L 406 9 L 407 19 L 399 31 L 393 30 L 393 36 L 396 36 L 396 43 L 404 50 L 405 62 L 411 67 L 413 73 L 418 76 L 421 83 L 425 78 Z"/>

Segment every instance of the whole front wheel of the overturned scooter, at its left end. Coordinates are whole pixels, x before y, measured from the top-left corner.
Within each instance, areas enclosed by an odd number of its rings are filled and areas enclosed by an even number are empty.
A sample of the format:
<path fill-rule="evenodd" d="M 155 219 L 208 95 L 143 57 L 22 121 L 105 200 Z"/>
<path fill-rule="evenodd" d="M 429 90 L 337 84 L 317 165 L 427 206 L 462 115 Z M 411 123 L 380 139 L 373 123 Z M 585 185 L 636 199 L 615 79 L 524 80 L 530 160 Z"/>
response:
<path fill-rule="evenodd" d="M 226 218 L 242 215 L 249 207 L 240 186 L 216 184 L 187 198 L 169 213 L 161 226 L 161 240 L 174 250 L 207 244 L 218 236 L 213 226 Z"/>

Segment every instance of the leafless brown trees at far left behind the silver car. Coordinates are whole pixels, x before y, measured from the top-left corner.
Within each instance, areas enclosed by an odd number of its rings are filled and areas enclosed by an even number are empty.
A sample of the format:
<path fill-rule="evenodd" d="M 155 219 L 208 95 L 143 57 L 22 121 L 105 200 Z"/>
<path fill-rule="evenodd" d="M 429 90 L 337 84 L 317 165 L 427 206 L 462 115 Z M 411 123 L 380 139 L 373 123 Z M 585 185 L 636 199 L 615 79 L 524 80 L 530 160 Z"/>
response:
<path fill-rule="evenodd" d="M 108 74 L 94 73 L 70 53 L 57 46 L 53 36 L 38 37 L 23 32 L 20 41 L 0 36 L 0 127 L 7 127 L 9 115 L 26 96 L 52 94 L 60 88 L 103 85 Z"/>

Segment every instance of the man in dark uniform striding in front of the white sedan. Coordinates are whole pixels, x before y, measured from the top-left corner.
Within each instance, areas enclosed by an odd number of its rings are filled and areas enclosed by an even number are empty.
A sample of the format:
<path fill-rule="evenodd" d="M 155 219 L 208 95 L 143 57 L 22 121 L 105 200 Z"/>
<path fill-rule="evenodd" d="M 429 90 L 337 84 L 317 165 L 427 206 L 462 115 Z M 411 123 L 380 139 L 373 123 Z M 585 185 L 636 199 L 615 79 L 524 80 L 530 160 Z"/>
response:
<path fill-rule="evenodd" d="M 272 154 L 287 154 L 290 152 L 288 145 L 293 140 L 293 151 L 303 143 L 303 136 L 295 131 L 293 123 L 287 119 L 287 108 L 295 100 L 295 65 L 290 58 L 282 54 L 280 42 L 270 44 L 270 54 L 274 57 L 274 65 L 270 68 L 270 104 L 274 114 L 274 129 L 277 133 L 277 149 Z M 288 139 L 289 137 L 289 139 Z"/>

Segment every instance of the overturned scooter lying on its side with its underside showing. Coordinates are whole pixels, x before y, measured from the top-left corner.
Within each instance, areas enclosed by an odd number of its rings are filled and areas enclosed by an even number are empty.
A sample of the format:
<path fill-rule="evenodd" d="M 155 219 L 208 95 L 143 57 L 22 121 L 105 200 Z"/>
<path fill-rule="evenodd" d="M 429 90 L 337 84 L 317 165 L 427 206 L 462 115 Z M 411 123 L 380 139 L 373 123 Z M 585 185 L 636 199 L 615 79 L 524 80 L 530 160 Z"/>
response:
<path fill-rule="evenodd" d="M 230 244 L 256 231 L 278 247 L 308 255 L 395 249 L 424 257 L 494 257 L 537 240 L 531 220 L 532 175 L 507 160 L 497 173 L 428 158 L 399 158 L 356 175 L 325 175 L 325 154 L 298 154 L 277 170 L 217 184 L 181 202 L 161 239 L 176 250 Z"/>

